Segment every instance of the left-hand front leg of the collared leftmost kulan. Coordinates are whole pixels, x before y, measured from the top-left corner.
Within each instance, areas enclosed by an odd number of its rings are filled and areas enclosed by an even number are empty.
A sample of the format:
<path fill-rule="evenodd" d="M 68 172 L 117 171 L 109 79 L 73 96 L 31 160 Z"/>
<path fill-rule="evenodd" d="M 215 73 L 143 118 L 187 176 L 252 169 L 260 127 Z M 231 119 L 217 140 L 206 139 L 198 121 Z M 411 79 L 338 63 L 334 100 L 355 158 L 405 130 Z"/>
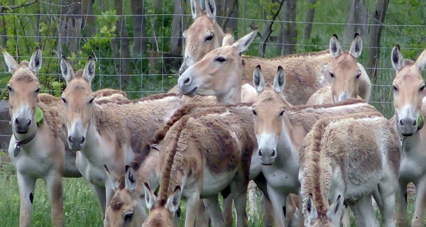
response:
<path fill-rule="evenodd" d="M 21 198 L 21 208 L 19 209 L 19 226 L 30 226 L 31 214 L 33 213 L 34 185 L 35 178 L 16 174 L 18 178 L 19 196 Z"/>

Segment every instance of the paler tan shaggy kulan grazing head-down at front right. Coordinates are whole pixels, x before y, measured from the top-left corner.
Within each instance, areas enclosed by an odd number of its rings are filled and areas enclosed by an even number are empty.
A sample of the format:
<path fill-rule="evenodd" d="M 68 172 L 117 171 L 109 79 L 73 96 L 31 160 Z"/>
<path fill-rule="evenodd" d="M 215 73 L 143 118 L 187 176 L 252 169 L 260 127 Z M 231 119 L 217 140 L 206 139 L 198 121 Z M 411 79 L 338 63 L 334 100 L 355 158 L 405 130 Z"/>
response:
<path fill-rule="evenodd" d="M 384 226 L 395 226 L 400 145 L 377 111 L 322 118 L 299 150 L 305 226 L 340 226 L 343 202 L 357 226 L 379 226 L 371 205 L 378 187 Z"/>

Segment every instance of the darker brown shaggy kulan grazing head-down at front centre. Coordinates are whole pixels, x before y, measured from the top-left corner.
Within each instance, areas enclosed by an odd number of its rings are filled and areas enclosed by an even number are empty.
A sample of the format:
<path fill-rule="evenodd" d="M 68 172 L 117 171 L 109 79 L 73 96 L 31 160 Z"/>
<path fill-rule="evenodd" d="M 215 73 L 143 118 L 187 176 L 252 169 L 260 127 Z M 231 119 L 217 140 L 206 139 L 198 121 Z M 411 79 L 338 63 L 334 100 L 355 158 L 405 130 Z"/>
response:
<path fill-rule="evenodd" d="M 170 128 L 160 143 L 160 160 L 164 160 L 160 197 L 157 202 L 146 188 L 151 212 L 143 226 L 168 226 L 181 196 L 187 199 L 185 226 L 194 226 L 199 198 L 213 226 L 223 226 L 217 196 L 228 185 L 236 206 L 236 226 L 246 226 L 246 190 L 256 145 L 250 135 L 253 126 L 245 120 L 249 116 L 248 106 L 218 106 L 183 116 Z"/>

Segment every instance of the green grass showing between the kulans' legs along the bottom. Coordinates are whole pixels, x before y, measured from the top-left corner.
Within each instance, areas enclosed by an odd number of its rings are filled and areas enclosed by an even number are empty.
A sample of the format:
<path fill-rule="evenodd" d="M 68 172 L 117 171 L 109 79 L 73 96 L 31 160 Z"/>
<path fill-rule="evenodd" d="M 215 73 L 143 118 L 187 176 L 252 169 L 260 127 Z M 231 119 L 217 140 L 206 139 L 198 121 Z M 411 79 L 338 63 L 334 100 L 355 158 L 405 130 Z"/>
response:
<path fill-rule="evenodd" d="M 89 184 L 82 178 L 64 179 L 64 210 L 65 226 L 102 226 L 102 215 L 99 204 L 89 188 Z M 18 226 L 19 222 L 19 192 L 13 166 L 0 165 L 0 226 Z M 414 195 L 408 197 L 408 214 L 413 217 Z M 185 205 L 182 204 L 182 214 L 185 214 Z M 260 208 L 260 204 L 258 204 Z M 380 216 L 378 214 L 378 216 Z M 45 182 L 38 180 L 35 184 L 33 204 L 33 218 L 31 226 L 52 226 L 50 218 L 50 201 Z M 181 218 L 181 225 L 184 220 Z M 355 226 L 351 216 L 351 226 Z M 261 217 L 255 216 L 249 226 L 261 227 Z"/>

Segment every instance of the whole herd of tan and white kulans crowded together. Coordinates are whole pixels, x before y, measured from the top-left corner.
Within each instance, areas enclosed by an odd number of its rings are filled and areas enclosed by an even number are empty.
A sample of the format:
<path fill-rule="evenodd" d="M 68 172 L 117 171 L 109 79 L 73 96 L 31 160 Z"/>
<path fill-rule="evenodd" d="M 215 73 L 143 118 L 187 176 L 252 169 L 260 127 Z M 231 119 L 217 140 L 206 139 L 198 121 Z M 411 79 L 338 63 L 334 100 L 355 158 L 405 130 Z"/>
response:
<path fill-rule="evenodd" d="M 191 1 L 195 21 L 183 33 L 178 85 L 167 94 L 129 100 L 122 91 L 93 92 L 92 57 L 77 72 L 62 57 L 62 98 L 40 94 L 40 49 L 18 64 L 1 48 L 12 74 L 19 226 L 31 223 L 39 178 L 53 226 L 64 226 L 62 177 L 87 179 L 104 226 L 179 226 L 183 204 L 186 227 L 248 226 L 249 182 L 262 192 L 263 209 L 256 194 L 249 201 L 264 226 L 350 226 L 349 208 L 357 226 L 380 226 L 377 209 L 383 226 L 425 226 L 426 50 L 413 61 L 393 48 L 388 120 L 368 104 L 359 34 L 349 52 L 333 35 L 329 50 L 251 57 L 241 53 L 257 30 L 234 42 L 216 22 L 214 0 L 205 5 Z M 417 199 L 409 221 L 410 182 Z"/>

